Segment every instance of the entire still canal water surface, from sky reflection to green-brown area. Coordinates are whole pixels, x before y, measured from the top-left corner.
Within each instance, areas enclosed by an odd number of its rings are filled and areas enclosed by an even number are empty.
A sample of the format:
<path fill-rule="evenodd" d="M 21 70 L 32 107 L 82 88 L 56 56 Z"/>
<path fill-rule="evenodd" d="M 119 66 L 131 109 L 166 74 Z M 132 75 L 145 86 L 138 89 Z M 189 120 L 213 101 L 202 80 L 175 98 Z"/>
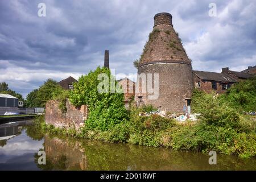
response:
<path fill-rule="evenodd" d="M 32 121 L 0 125 L 0 170 L 256 170 L 256 159 L 206 154 L 162 147 L 58 138 L 36 131 Z M 46 164 L 38 164 L 39 151 Z"/>

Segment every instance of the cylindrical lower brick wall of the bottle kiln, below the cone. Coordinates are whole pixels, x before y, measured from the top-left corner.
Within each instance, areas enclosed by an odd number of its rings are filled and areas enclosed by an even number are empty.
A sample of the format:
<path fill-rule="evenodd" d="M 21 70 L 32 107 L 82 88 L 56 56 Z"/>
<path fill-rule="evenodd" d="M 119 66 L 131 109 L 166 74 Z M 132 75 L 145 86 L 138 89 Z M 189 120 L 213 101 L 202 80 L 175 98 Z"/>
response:
<path fill-rule="evenodd" d="M 161 110 L 172 113 L 183 113 L 184 105 L 187 105 L 186 99 L 191 98 L 193 89 L 192 68 L 188 64 L 152 64 L 139 67 L 138 74 L 158 73 L 159 74 L 159 97 L 154 100 L 148 99 L 148 92 L 135 93 L 135 101 L 139 102 L 139 96 L 142 96 L 142 104 L 150 104 L 155 107 L 161 107 Z M 137 80 L 141 90 L 141 81 Z M 154 78 L 152 78 L 154 87 Z"/>

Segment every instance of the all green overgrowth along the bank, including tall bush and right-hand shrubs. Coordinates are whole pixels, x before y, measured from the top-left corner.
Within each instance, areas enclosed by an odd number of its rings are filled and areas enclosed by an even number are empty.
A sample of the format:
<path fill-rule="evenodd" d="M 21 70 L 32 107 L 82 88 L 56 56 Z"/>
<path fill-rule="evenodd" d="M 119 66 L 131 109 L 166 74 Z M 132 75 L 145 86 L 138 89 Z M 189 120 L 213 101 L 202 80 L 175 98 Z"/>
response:
<path fill-rule="evenodd" d="M 180 123 L 157 114 L 139 115 L 156 111 L 151 105 L 137 108 L 131 103 L 126 111 L 123 94 L 98 93 L 100 73 L 106 73 L 109 79 L 112 78 L 109 69 L 97 68 L 80 77 L 69 95 L 73 105 L 89 106 L 90 114 L 85 126 L 80 130 L 65 130 L 40 121 L 44 132 L 105 142 L 164 146 L 182 151 L 214 150 L 221 154 L 238 155 L 240 158 L 256 156 L 256 118 L 243 112 L 243 109 L 255 108 L 255 97 L 247 98 L 255 96 L 255 78 L 233 85 L 226 94 L 220 96 L 195 89 L 192 109 L 194 113 L 201 114 L 200 119 Z M 110 83 L 108 86 L 110 88 Z M 245 99 L 234 99 L 240 95 L 246 96 Z"/>

